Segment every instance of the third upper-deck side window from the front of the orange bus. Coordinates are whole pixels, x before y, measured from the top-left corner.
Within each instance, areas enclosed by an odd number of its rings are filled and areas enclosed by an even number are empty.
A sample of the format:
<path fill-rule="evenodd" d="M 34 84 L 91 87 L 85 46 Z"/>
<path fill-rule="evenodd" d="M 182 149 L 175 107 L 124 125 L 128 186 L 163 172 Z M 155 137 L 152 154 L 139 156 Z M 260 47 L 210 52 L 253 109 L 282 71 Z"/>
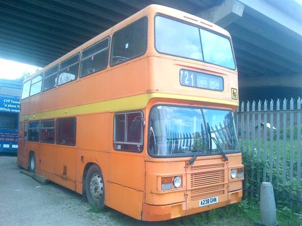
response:
<path fill-rule="evenodd" d="M 73 81 L 78 77 L 80 54 L 75 54 L 60 64 L 58 85 Z"/>

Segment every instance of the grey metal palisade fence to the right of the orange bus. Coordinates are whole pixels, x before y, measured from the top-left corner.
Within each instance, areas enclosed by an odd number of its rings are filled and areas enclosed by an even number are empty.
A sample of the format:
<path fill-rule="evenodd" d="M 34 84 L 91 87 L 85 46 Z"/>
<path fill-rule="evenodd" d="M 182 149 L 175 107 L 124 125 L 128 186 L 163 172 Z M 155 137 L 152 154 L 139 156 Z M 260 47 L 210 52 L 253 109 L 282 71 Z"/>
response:
<path fill-rule="evenodd" d="M 245 194 L 274 186 L 277 202 L 302 206 L 301 98 L 242 102 L 235 117 L 245 164 Z"/>

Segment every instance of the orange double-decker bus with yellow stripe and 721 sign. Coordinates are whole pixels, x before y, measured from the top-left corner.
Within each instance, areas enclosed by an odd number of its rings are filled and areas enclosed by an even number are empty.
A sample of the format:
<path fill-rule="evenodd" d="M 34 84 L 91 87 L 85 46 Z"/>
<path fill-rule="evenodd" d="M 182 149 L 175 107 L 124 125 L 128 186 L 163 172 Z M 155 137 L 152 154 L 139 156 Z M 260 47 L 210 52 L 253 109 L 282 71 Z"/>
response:
<path fill-rule="evenodd" d="M 238 202 L 230 34 L 149 6 L 24 80 L 18 164 L 136 219 Z"/>

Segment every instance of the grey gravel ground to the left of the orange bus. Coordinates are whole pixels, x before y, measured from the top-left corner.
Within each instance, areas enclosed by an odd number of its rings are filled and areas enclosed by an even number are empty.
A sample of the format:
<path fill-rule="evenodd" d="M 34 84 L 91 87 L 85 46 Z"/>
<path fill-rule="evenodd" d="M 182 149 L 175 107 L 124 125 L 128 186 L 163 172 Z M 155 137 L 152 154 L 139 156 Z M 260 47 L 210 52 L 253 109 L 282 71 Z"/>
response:
<path fill-rule="evenodd" d="M 82 195 L 21 174 L 16 156 L 0 156 L 0 225 L 172 225 L 148 223 L 111 208 L 96 211 Z"/>

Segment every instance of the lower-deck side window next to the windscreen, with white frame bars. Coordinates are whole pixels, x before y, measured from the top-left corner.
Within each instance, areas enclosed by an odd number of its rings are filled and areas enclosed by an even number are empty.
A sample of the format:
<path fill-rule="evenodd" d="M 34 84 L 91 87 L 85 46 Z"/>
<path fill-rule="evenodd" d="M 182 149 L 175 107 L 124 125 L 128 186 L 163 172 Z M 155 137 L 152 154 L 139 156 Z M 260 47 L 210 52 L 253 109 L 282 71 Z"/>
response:
<path fill-rule="evenodd" d="M 114 116 L 114 148 L 116 150 L 142 150 L 142 112 L 127 112 Z"/>

